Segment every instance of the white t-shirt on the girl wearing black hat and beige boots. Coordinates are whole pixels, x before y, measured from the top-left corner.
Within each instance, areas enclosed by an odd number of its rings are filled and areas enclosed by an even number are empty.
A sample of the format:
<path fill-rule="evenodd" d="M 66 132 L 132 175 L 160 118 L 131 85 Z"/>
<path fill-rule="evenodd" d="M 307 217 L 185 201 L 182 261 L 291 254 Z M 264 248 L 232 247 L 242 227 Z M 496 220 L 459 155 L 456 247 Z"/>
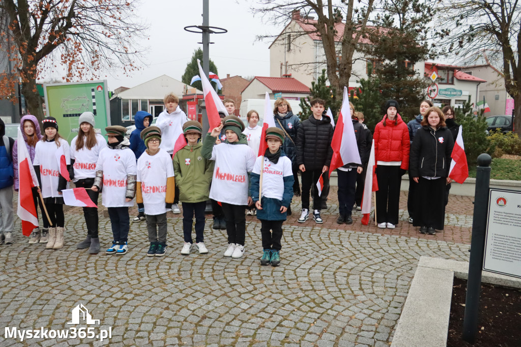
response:
<path fill-rule="evenodd" d="M 56 152 L 60 151 L 60 154 L 65 155 L 65 162 L 70 165 L 70 147 L 69 143 L 64 139 L 59 139 L 60 146 L 56 146 L 55 141 L 38 141 L 36 142 L 34 150 L 34 161 L 33 165 L 40 166 L 40 179 L 42 196 L 45 197 L 63 197 L 58 193 L 58 180 L 59 180 L 59 164 L 56 158 Z M 69 188 L 67 183 L 66 189 Z"/>

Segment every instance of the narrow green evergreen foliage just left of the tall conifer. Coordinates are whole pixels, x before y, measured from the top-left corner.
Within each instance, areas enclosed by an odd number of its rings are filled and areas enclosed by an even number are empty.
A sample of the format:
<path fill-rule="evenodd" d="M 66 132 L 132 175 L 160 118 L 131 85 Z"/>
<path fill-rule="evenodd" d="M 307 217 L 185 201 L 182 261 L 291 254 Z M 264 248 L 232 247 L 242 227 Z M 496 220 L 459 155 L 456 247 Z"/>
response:
<path fill-rule="evenodd" d="M 369 66 L 367 79 L 359 80 L 360 86 L 351 90 L 349 97 L 349 100 L 355 106 L 355 110 L 364 114 L 364 123 L 371 132 L 382 118 L 380 80 L 373 75 L 372 70 Z"/>

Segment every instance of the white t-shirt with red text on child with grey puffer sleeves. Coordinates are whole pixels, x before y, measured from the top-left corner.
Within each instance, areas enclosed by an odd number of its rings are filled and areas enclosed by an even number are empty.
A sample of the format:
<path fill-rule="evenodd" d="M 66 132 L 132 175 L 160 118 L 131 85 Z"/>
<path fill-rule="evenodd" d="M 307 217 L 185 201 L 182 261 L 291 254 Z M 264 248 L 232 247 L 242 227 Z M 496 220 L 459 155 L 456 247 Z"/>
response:
<path fill-rule="evenodd" d="M 108 146 L 100 151 L 96 171 L 103 171 L 102 203 L 105 207 L 134 206 L 134 200 L 126 202 L 127 175 L 137 175 L 135 154 L 129 147 L 113 150 Z"/>

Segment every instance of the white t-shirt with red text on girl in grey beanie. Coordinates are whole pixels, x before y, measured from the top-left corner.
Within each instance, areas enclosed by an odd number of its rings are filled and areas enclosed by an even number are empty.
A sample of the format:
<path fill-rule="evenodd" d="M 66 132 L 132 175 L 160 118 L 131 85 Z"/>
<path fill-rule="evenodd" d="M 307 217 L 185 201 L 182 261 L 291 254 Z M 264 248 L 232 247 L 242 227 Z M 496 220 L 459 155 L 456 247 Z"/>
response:
<path fill-rule="evenodd" d="M 96 134 L 96 144 L 90 150 L 85 144 L 81 150 L 76 151 L 76 140 L 75 137 L 70 142 L 70 158 L 74 159 L 74 179 L 76 182 L 84 178 L 96 177 L 96 163 L 97 158 L 100 155 L 100 151 L 107 146 L 105 138 L 101 134 Z M 85 140 L 85 137 L 83 138 Z"/>

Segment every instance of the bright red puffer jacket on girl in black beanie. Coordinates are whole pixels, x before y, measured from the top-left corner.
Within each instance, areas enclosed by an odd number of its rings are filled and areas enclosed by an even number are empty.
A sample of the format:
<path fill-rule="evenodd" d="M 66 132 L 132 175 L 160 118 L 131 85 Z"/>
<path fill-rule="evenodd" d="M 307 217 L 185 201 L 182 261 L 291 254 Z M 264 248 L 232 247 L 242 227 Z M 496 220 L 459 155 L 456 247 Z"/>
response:
<path fill-rule="evenodd" d="M 383 116 L 375 127 L 373 139 L 377 162 L 402 162 L 400 168 L 407 170 L 411 142 L 407 126 L 399 114 L 396 114 L 394 120 L 388 119 L 387 115 Z"/>

